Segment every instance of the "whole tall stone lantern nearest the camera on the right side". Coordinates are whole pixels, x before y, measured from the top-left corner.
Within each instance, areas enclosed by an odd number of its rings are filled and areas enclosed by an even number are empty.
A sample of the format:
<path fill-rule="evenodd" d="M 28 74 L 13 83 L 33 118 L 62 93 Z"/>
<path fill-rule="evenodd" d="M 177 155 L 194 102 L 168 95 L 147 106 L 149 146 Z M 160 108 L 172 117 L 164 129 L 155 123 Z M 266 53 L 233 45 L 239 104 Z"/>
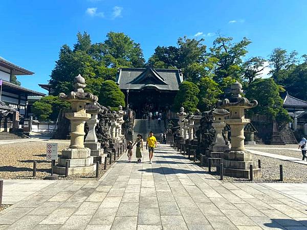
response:
<path fill-rule="evenodd" d="M 250 165 L 253 165 L 254 176 L 261 175 L 261 169 L 252 161 L 251 153 L 247 152 L 244 147 L 244 127 L 250 123 L 249 119 L 245 118 L 244 110 L 257 106 L 255 100 L 249 101 L 243 98 L 240 93 L 243 93 L 242 84 L 235 82 L 231 85 L 232 97 L 224 99 L 222 108 L 229 109 L 230 116 L 226 119 L 226 123 L 231 129 L 231 149 L 224 153 L 224 175 L 232 177 L 250 177 Z"/>

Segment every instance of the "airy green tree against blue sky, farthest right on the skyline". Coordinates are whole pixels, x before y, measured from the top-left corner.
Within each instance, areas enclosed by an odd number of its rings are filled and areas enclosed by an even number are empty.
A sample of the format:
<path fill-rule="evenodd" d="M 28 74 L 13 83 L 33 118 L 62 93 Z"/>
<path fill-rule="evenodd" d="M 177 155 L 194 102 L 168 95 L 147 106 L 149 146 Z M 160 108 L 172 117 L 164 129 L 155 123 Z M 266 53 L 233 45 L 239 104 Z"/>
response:
<path fill-rule="evenodd" d="M 269 55 L 269 63 L 272 70 L 270 74 L 276 83 L 282 84 L 289 72 L 297 62 L 297 52 L 292 51 L 288 54 L 287 50 L 275 48 Z"/>

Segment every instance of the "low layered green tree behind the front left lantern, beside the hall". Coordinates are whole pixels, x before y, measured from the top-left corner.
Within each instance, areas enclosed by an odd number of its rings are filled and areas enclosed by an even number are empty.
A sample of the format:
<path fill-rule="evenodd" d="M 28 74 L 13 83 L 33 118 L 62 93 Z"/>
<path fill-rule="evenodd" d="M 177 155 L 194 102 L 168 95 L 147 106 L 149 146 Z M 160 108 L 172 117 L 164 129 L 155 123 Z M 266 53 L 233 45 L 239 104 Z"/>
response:
<path fill-rule="evenodd" d="M 70 108 L 71 104 L 56 96 L 46 96 L 33 104 L 33 113 L 41 120 L 56 121 L 62 108 Z"/>

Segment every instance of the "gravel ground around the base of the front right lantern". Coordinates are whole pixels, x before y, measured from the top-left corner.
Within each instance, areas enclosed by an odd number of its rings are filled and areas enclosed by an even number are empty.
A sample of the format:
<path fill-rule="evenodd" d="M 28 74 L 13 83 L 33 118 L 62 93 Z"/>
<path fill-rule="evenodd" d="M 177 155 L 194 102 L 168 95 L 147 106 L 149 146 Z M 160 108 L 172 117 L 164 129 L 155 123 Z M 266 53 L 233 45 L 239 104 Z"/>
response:
<path fill-rule="evenodd" d="M 281 182 L 279 181 L 279 165 L 283 166 L 283 182 L 285 183 L 307 183 L 307 166 L 297 163 L 287 162 L 280 159 L 275 159 L 267 156 L 260 156 L 253 154 L 253 160 L 261 160 L 261 172 L 260 178 L 254 178 L 253 182 Z M 208 171 L 207 167 L 203 167 L 205 171 Z M 215 168 L 212 168 L 215 171 Z M 212 172 L 215 178 L 220 179 L 220 174 Z M 252 182 L 249 179 L 234 178 L 224 176 L 224 182 Z"/>

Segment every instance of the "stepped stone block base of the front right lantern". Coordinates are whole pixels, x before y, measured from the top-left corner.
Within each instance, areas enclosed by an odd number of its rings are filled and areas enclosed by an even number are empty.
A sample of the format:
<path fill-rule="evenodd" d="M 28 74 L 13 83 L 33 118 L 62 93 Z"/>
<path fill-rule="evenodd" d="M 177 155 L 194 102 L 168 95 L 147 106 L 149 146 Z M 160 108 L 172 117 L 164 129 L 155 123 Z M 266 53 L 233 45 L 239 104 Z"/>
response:
<path fill-rule="evenodd" d="M 250 165 L 253 165 L 254 178 L 261 176 L 261 169 L 258 168 L 251 157 L 251 153 L 246 151 L 229 151 L 224 153 L 222 162 L 224 165 L 224 175 L 237 178 L 250 178 Z M 220 170 L 220 167 L 218 167 Z"/>

